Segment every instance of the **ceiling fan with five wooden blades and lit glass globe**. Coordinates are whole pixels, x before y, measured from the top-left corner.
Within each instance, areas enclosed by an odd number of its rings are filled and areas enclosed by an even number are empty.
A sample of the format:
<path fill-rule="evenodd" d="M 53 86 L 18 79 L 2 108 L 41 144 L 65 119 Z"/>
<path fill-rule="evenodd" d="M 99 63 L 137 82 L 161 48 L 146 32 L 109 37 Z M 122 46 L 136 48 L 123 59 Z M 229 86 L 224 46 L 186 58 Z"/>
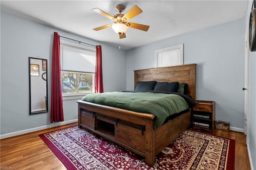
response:
<path fill-rule="evenodd" d="M 109 18 L 110 20 L 114 21 L 114 23 L 94 28 L 94 30 L 99 31 L 104 28 L 112 27 L 112 29 L 114 29 L 114 31 L 119 34 L 120 39 L 126 37 L 125 32 L 127 31 L 128 27 L 140 29 L 142 31 L 148 31 L 148 25 L 128 22 L 128 20 L 142 13 L 142 10 L 138 6 L 135 5 L 126 14 L 121 14 L 121 12 L 123 12 L 124 9 L 125 7 L 123 5 L 117 5 L 116 11 L 119 12 L 119 14 L 116 14 L 114 16 L 111 16 L 110 14 L 100 10 L 99 8 L 92 9 L 94 12 L 97 12 L 98 14 L 101 14 L 106 18 Z"/>

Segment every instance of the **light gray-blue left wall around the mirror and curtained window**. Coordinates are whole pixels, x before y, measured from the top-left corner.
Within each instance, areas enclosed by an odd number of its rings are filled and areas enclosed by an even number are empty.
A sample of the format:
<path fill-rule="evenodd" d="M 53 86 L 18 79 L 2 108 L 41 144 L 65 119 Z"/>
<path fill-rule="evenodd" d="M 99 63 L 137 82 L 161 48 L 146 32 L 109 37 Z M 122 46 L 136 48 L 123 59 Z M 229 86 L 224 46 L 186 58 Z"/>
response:
<path fill-rule="evenodd" d="M 102 45 L 104 92 L 126 90 L 124 50 L 1 12 L 1 135 L 50 124 L 54 32 L 93 45 Z M 49 112 L 29 115 L 28 57 L 38 55 L 48 59 Z M 76 101 L 63 101 L 64 121 L 77 119 Z"/>

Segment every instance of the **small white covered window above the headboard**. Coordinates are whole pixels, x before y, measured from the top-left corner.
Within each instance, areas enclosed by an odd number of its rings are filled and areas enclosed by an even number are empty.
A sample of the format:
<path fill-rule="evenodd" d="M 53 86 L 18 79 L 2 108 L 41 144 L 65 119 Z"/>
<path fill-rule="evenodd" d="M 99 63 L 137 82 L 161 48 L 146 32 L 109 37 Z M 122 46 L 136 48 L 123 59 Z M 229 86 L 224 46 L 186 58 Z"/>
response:
<path fill-rule="evenodd" d="M 183 44 L 155 51 L 155 67 L 177 66 L 183 64 Z"/>

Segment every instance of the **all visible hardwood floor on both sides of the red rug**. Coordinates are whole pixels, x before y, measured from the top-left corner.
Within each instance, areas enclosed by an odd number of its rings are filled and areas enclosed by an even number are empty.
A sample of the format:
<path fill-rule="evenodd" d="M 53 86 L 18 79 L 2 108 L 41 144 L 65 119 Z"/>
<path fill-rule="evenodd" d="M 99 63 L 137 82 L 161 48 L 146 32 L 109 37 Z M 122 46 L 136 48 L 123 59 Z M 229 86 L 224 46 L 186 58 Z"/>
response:
<path fill-rule="evenodd" d="M 1 169 L 66 170 L 66 167 L 38 135 L 77 125 L 71 123 L 0 140 Z M 246 135 L 236 131 L 215 130 L 214 135 L 236 140 L 235 170 L 250 170 Z M 4 166 L 4 167 L 2 167 Z"/>

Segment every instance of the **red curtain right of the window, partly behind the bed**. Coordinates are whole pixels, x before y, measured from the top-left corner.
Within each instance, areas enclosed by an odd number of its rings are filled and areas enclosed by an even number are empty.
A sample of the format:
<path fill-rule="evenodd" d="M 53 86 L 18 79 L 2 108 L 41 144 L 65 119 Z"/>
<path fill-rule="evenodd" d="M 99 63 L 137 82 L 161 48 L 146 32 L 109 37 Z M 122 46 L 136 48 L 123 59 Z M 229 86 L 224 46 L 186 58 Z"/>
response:
<path fill-rule="evenodd" d="M 95 93 L 103 93 L 101 45 L 96 46 Z"/>

